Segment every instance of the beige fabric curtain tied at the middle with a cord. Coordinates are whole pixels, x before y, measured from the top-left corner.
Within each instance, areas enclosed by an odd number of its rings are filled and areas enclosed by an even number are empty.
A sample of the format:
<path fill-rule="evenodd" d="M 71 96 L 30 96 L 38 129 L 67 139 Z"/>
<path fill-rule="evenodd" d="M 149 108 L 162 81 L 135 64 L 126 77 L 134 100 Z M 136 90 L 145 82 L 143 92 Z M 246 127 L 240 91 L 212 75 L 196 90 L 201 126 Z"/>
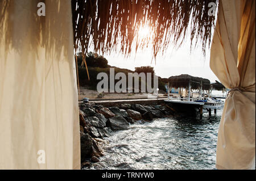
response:
<path fill-rule="evenodd" d="M 255 168 L 255 1 L 220 1 L 210 68 L 228 89 L 217 169 Z"/>

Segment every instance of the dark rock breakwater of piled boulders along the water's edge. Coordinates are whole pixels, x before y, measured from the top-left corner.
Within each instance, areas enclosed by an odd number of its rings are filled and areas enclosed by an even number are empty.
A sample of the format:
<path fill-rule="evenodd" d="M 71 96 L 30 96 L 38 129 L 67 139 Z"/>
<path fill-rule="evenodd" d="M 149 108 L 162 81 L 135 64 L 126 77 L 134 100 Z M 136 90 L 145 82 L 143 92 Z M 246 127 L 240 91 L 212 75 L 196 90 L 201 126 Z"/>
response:
<path fill-rule="evenodd" d="M 121 104 L 104 107 L 91 103 L 80 104 L 81 167 L 99 162 L 104 155 L 102 144 L 113 132 L 129 129 L 131 124 L 144 124 L 160 117 L 180 117 L 168 106 Z"/>

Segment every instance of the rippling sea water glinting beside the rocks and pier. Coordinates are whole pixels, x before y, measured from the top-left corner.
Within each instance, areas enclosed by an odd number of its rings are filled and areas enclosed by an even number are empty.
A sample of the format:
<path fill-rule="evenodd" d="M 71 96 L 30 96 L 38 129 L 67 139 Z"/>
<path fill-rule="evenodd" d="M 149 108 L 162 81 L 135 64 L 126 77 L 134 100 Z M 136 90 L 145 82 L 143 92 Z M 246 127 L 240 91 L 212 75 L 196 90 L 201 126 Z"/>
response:
<path fill-rule="evenodd" d="M 155 119 L 114 132 L 104 157 L 88 169 L 215 169 L 221 113 Z"/>

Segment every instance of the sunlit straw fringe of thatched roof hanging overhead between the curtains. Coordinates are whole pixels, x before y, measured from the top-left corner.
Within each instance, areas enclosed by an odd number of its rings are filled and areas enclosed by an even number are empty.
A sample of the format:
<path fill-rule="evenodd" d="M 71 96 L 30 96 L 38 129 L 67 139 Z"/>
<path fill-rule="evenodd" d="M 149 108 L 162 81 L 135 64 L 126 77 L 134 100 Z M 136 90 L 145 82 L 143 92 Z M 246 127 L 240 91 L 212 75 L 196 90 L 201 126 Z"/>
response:
<path fill-rule="evenodd" d="M 86 54 L 92 43 L 95 52 L 115 51 L 128 56 L 132 49 L 151 46 L 156 57 L 170 43 L 179 47 L 189 35 L 191 47 L 200 41 L 205 53 L 214 26 L 208 4 L 217 5 L 217 1 L 72 0 L 75 49 Z M 150 27 L 154 36 L 139 40 L 141 26 Z"/>

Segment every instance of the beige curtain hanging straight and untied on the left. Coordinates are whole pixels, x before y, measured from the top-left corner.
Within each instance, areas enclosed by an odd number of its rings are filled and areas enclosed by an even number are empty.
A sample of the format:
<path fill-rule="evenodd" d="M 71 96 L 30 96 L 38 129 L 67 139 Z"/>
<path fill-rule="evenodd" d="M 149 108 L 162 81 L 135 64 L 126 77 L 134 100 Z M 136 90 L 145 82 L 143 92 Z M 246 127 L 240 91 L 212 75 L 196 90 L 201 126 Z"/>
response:
<path fill-rule="evenodd" d="M 10 0 L 4 8 L 0 169 L 80 169 L 71 1 Z"/>

